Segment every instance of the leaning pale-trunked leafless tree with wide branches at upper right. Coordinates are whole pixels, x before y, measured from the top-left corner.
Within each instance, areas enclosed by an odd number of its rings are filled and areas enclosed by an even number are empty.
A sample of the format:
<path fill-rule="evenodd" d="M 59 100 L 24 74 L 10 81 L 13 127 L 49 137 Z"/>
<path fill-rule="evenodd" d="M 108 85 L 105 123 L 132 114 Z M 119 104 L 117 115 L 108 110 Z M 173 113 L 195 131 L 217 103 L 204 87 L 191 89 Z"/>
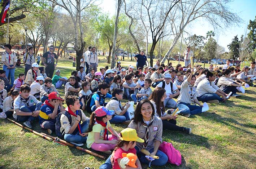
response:
<path fill-rule="evenodd" d="M 229 27 L 236 25 L 241 18 L 229 8 L 231 0 L 185 0 L 180 1 L 172 10 L 173 13 L 169 19 L 173 30 L 174 40 L 161 63 L 172 52 L 177 41 L 181 37 L 187 25 L 192 21 L 204 19 L 213 27 Z"/>

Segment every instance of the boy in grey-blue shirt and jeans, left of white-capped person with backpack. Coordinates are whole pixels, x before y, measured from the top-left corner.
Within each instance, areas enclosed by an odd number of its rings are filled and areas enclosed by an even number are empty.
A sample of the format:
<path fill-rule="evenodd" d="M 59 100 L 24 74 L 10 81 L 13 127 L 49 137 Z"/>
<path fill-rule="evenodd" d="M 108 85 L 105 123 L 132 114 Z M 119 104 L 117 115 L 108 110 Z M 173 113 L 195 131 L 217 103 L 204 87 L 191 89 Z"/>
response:
<path fill-rule="evenodd" d="M 152 83 L 151 79 L 145 79 L 144 81 L 144 87 L 140 89 L 140 91 L 135 94 L 131 94 L 131 98 L 133 99 L 134 103 L 136 104 L 137 101 L 141 101 L 142 99 L 147 99 L 152 94 L 152 89 L 150 88 L 150 85 Z"/>

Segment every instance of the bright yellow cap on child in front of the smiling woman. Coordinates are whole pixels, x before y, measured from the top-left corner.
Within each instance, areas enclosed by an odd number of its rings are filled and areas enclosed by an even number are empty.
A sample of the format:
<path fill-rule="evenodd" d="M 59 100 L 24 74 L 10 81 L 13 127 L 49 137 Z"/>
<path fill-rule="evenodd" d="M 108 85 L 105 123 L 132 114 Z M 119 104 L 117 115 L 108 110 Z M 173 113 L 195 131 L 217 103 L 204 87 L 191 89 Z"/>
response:
<path fill-rule="evenodd" d="M 137 141 L 140 143 L 144 143 L 144 140 L 138 137 L 135 129 L 126 128 L 121 131 L 122 137 L 120 137 L 123 141 Z"/>

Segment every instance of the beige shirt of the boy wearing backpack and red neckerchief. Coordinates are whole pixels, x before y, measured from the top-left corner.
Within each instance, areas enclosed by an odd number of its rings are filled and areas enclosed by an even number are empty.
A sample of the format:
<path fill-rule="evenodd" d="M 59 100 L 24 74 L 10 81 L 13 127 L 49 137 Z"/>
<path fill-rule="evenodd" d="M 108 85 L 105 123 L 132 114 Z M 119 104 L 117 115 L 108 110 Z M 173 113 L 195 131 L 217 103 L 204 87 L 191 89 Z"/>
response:
<path fill-rule="evenodd" d="M 81 110 L 81 113 L 82 113 L 82 119 L 81 121 L 86 121 L 88 117 L 85 116 L 85 114 L 83 113 L 83 111 Z M 68 134 L 69 130 L 71 129 L 71 126 L 74 125 L 74 122 L 75 122 L 75 116 L 72 116 L 71 115 L 71 124 L 69 124 L 69 119 L 67 116 L 65 115 L 61 115 L 60 116 L 60 124 L 61 124 L 61 127 L 60 127 L 60 132 L 62 133 L 63 130 L 65 130 L 65 134 Z"/>

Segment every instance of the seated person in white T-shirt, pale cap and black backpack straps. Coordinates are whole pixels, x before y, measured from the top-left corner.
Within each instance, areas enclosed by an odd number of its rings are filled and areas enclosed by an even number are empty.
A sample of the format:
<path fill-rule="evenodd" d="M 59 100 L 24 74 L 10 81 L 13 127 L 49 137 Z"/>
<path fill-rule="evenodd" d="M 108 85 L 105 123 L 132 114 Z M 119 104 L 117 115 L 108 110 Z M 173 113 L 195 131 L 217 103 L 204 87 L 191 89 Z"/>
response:
<path fill-rule="evenodd" d="M 177 108 L 177 103 L 173 98 L 179 95 L 179 89 L 175 86 L 175 84 L 171 83 L 171 78 L 172 76 L 170 74 L 165 74 L 164 81 L 160 82 L 156 88 L 164 88 L 166 91 L 167 97 L 164 100 L 164 107 L 167 106 L 170 108 Z"/>

